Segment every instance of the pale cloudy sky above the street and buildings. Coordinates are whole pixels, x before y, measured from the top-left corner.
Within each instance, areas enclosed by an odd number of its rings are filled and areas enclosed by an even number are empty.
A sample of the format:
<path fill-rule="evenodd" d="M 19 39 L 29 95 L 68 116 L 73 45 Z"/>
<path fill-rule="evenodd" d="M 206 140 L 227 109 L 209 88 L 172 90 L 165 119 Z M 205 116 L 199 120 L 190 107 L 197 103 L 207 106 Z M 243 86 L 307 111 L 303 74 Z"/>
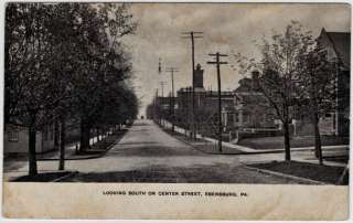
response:
<path fill-rule="evenodd" d="M 195 63 L 204 68 L 204 87 L 216 91 L 216 68 L 208 53 L 229 54 L 221 66 L 222 91 L 233 91 L 242 76 L 234 71 L 234 53 L 248 57 L 259 55 L 255 41 L 284 32 L 290 21 L 299 21 L 318 36 L 327 31 L 350 32 L 349 4 L 329 3 L 131 3 L 130 12 L 138 22 L 135 35 L 122 41 L 131 53 L 133 86 L 143 115 L 156 89 L 161 95 L 160 82 L 165 82 L 164 96 L 171 92 L 171 75 L 165 67 L 178 67 L 175 92 L 192 85 L 191 40 L 182 32 L 201 31 L 195 40 Z M 162 73 L 158 73 L 161 59 Z"/>

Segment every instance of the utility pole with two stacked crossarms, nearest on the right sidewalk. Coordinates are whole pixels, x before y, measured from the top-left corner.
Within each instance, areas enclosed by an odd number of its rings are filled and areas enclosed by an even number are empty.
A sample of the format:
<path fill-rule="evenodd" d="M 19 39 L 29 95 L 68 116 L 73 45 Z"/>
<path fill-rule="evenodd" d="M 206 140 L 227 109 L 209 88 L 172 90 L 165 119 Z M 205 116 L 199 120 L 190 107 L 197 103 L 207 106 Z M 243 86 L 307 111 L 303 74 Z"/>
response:
<path fill-rule="evenodd" d="M 227 64 L 227 62 L 221 62 L 220 57 L 228 56 L 226 54 L 221 53 L 211 53 L 210 56 L 214 56 L 216 61 L 208 61 L 207 64 L 216 64 L 217 67 L 217 84 L 218 84 L 218 150 L 222 152 L 222 117 L 221 117 L 221 109 L 222 109 L 222 98 L 221 98 L 221 64 Z"/>

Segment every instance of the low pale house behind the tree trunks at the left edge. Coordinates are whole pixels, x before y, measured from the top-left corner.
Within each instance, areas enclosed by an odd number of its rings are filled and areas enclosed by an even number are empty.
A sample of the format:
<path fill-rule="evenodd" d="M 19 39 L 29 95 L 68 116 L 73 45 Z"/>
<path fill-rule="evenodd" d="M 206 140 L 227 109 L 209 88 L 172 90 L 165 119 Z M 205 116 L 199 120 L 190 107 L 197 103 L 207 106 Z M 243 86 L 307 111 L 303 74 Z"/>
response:
<path fill-rule="evenodd" d="M 35 151 L 43 153 L 54 150 L 54 125 L 47 125 L 43 131 L 36 132 Z M 3 132 L 3 153 L 7 156 L 25 155 L 29 151 L 28 129 L 20 126 L 7 125 Z"/>

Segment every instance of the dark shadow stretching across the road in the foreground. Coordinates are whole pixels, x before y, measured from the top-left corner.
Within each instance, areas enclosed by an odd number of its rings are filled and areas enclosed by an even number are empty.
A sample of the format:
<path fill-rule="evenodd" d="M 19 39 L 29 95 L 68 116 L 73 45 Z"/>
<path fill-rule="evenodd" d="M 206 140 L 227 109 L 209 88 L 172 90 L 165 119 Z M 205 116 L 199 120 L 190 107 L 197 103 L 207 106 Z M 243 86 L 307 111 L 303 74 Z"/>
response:
<path fill-rule="evenodd" d="M 258 174 L 243 167 L 195 164 L 189 168 L 151 166 L 148 169 L 81 172 L 61 182 L 149 182 L 149 183 L 297 183 L 289 179 Z"/>

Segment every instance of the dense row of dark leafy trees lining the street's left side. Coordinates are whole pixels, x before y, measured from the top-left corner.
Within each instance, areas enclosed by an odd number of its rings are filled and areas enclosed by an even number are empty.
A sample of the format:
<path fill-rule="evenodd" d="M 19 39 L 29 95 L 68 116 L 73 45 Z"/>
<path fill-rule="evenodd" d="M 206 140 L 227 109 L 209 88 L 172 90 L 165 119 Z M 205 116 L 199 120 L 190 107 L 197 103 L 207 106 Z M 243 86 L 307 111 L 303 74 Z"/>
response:
<path fill-rule="evenodd" d="M 136 22 L 127 4 L 9 3 L 6 10 L 4 121 L 29 131 L 29 174 L 36 174 L 36 132 L 78 121 L 81 148 L 93 128 L 137 115 L 138 99 L 126 82 L 129 54 L 121 38 Z"/>

